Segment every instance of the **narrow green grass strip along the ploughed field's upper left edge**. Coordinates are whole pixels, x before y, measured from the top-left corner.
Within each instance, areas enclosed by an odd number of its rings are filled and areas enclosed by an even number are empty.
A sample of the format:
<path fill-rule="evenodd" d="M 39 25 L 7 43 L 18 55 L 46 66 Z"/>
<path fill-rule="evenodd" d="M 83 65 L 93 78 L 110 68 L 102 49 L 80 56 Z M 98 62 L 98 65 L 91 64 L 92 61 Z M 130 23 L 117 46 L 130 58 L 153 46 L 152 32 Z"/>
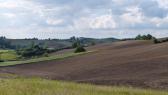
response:
<path fill-rule="evenodd" d="M 82 55 L 82 54 L 87 54 L 87 53 L 90 53 L 90 52 L 66 53 L 66 54 L 54 55 L 54 56 L 49 56 L 49 57 L 34 58 L 34 59 L 29 59 L 29 60 L 24 60 L 24 61 L 1 62 L 0 66 L 11 66 L 11 65 L 18 65 L 18 64 L 29 64 L 29 63 L 36 63 L 36 62 L 41 62 L 41 61 L 48 61 L 48 60 L 59 60 L 59 59 L 64 59 L 64 58 L 73 57 L 73 56 Z"/>

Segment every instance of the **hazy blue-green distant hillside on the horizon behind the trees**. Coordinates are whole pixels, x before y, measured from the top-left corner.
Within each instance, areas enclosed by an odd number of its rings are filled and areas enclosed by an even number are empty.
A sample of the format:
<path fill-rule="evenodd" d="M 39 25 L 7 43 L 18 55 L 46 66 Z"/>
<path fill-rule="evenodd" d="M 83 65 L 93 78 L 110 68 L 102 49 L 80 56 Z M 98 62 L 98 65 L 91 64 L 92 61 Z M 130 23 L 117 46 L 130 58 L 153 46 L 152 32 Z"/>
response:
<path fill-rule="evenodd" d="M 79 38 L 82 44 L 91 45 L 93 42 L 95 44 L 101 43 L 111 43 L 114 41 L 118 41 L 115 38 L 105 38 L 105 39 L 94 39 L 94 38 Z M 61 48 L 69 48 L 72 46 L 72 39 L 46 39 L 46 40 L 38 40 L 38 39 L 8 39 L 13 46 L 24 47 L 30 45 L 32 42 L 40 45 L 47 45 L 49 48 L 61 49 Z"/>

